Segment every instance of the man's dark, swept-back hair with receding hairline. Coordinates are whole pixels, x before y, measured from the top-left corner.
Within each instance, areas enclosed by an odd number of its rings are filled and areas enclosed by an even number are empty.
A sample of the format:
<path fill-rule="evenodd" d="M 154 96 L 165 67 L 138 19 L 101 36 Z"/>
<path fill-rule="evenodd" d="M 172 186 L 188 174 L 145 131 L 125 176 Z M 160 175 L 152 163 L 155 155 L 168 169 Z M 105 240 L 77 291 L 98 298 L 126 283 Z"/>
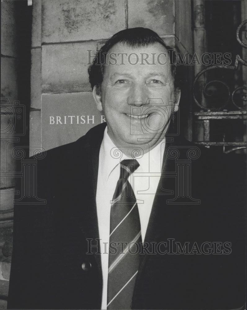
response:
<path fill-rule="evenodd" d="M 178 67 L 181 67 L 181 65 L 177 66 L 178 49 L 165 45 L 164 41 L 156 32 L 152 31 L 151 29 L 142 27 L 124 29 L 115 33 L 110 39 L 108 39 L 108 41 L 101 47 L 101 49 L 97 50 L 93 63 L 90 64 L 88 68 L 89 82 L 92 89 L 94 86 L 96 86 L 97 93 L 100 92 L 100 86 L 103 82 L 104 75 L 104 64 L 106 60 L 105 56 L 115 44 L 123 43 L 131 47 L 144 47 L 156 42 L 163 45 L 168 51 L 171 64 L 171 73 L 174 80 L 174 87 L 180 89 L 181 75 L 177 74 L 179 69 Z"/>

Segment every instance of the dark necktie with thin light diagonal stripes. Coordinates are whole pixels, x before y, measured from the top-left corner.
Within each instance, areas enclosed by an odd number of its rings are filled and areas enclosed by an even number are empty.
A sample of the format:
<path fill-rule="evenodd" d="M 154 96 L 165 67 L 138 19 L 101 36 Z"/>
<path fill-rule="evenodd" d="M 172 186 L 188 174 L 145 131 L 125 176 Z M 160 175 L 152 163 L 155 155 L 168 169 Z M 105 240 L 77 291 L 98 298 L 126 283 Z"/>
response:
<path fill-rule="evenodd" d="M 131 309 L 142 237 L 138 206 L 128 177 L 138 166 L 135 159 L 120 163 L 120 178 L 112 199 L 107 309 Z"/>

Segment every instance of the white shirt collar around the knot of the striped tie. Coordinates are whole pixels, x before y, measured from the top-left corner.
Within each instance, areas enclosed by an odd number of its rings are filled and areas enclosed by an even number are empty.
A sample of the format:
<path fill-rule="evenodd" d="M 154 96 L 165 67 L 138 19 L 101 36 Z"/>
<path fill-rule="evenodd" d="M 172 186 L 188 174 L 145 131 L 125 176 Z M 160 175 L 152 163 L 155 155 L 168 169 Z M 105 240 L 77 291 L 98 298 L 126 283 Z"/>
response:
<path fill-rule="evenodd" d="M 165 138 L 161 140 L 152 150 L 145 153 L 141 158 L 136 158 L 139 162 L 139 168 L 136 172 L 161 172 L 163 155 L 165 150 Z M 122 156 L 121 156 L 122 155 Z M 104 130 L 104 137 L 100 147 L 100 165 L 102 178 L 107 182 L 112 170 L 116 168 L 124 159 L 130 159 L 123 154 L 119 148 L 112 142 L 107 132 L 107 126 Z"/>

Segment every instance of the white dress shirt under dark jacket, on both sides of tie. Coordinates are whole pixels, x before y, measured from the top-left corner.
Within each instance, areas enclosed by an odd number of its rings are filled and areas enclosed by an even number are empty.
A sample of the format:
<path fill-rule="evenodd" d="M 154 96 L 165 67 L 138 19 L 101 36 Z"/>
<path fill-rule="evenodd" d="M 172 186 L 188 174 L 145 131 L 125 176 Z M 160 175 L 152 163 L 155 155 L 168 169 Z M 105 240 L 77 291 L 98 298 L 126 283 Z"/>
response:
<path fill-rule="evenodd" d="M 165 139 L 157 144 L 157 146 L 150 152 L 145 153 L 141 158 L 136 157 L 140 166 L 132 175 L 130 175 L 128 179 L 134 190 L 137 200 L 142 241 L 144 241 L 145 238 L 154 196 L 160 180 L 164 149 Z M 120 154 L 122 154 L 122 156 Z M 120 176 L 120 162 L 128 158 L 129 157 L 124 155 L 112 142 L 107 133 L 106 127 L 99 152 L 99 170 L 96 193 L 99 239 L 101 239 L 101 264 L 103 273 L 101 309 L 107 308 L 108 249 L 111 212 L 110 201 L 112 200 L 117 181 Z M 155 176 L 152 176 L 152 173 L 154 173 Z"/>

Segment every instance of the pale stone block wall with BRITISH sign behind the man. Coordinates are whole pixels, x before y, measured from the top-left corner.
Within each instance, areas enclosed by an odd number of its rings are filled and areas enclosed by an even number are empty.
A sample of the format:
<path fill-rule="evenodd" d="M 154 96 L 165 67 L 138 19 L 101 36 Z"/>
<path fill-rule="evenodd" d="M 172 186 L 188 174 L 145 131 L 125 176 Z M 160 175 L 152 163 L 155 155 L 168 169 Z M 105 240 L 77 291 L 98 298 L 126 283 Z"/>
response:
<path fill-rule="evenodd" d="M 87 50 L 122 29 L 148 27 L 192 54 L 190 12 L 191 1 L 33 1 L 30 145 L 48 150 L 72 142 L 102 121 L 88 82 Z M 77 124 L 77 116 L 85 123 Z"/>

